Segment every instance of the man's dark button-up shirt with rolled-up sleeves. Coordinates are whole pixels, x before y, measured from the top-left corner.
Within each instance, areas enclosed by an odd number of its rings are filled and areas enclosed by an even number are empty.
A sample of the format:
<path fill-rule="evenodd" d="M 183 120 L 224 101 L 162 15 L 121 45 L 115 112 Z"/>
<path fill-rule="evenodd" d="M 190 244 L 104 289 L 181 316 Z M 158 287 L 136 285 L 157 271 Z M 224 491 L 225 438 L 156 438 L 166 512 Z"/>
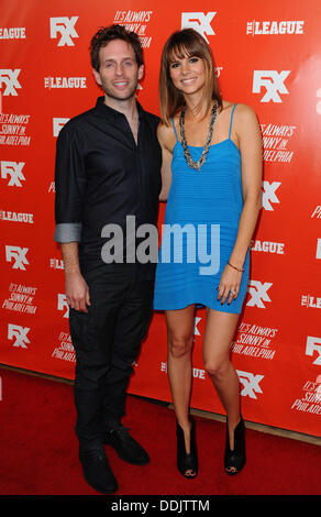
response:
<path fill-rule="evenodd" d="M 56 242 L 79 242 L 82 273 L 107 267 L 152 278 L 155 264 L 126 261 L 128 216 L 141 224 L 157 226 L 162 186 L 162 152 L 156 136 L 158 117 L 137 102 L 137 144 L 124 114 L 98 98 L 96 107 L 70 119 L 60 130 L 56 148 Z M 107 224 L 117 224 L 124 237 L 123 264 L 107 263 L 101 235 Z M 111 235 L 111 233 L 110 233 Z M 137 245 L 139 240 L 135 241 Z M 115 251 L 117 254 L 117 251 Z"/>

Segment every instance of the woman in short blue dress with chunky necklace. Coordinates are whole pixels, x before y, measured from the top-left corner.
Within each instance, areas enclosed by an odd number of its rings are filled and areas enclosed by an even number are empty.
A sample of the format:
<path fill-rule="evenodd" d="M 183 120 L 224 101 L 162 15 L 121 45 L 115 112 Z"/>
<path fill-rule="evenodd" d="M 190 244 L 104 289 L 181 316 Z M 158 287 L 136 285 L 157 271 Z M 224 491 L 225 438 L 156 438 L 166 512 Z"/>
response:
<path fill-rule="evenodd" d="M 198 472 L 189 416 L 195 311 L 207 308 L 204 367 L 226 411 L 224 469 L 245 463 L 244 422 L 230 346 L 247 290 L 248 246 L 261 209 L 262 140 L 245 105 L 220 96 L 211 51 L 192 29 L 166 42 L 159 75 L 163 188 L 167 200 L 154 308 L 164 310 L 176 413 L 177 466 Z"/>

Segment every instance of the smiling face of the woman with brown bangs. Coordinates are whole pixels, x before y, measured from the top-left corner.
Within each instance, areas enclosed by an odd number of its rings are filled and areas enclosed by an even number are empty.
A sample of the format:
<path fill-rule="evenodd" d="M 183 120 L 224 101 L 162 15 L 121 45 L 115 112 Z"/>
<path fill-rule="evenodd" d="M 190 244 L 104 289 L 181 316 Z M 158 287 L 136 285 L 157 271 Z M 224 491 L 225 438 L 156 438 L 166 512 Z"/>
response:
<path fill-rule="evenodd" d="M 201 57 L 175 56 L 169 63 L 169 76 L 174 86 L 185 95 L 200 91 L 206 82 L 206 67 Z"/>

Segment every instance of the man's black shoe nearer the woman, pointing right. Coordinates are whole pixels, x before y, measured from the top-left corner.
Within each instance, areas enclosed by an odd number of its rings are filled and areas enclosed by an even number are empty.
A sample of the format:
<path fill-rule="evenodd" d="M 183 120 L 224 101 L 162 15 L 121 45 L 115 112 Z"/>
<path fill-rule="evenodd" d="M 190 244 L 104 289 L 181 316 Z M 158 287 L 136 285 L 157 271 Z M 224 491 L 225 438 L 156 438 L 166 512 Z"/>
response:
<path fill-rule="evenodd" d="M 147 452 L 134 440 L 125 427 L 108 429 L 104 443 L 114 448 L 118 455 L 133 465 L 150 463 Z"/>

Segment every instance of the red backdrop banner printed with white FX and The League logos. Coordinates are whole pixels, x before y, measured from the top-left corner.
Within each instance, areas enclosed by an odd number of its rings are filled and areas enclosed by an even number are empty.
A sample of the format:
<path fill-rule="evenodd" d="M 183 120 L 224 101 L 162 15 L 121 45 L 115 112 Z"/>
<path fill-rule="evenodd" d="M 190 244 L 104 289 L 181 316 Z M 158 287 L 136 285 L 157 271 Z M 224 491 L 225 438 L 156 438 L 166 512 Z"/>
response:
<path fill-rule="evenodd" d="M 263 209 L 248 293 L 232 343 L 247 420 L 321 436 L 320 0 L 1 0 L 0 363 L 68 380 L 75 352 L 64 264 L 53 240 L 56 139 L 95 106 L 89 42 L 100 26 L 135 31 L 145 54 L 137 98 L 159 114 L 158 70 L 171 32 L 199 31 L 223 98 L 257 113 Z M 162 204 L 159 224 L 164 220 Z M 195 320 L 191 406 L 221 413 Z M 170 402 L 166 324 L 155 314 L 130 393 Z"/>

